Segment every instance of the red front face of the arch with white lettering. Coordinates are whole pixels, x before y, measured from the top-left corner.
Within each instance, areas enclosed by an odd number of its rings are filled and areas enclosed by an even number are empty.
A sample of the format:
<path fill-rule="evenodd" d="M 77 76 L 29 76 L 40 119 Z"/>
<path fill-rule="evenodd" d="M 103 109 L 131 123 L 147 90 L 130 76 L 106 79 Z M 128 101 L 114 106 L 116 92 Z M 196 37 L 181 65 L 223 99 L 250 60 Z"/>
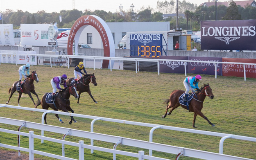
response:
<path fill-rule="evenodd" d="M 104 49 L 104 56 L 110 56 L 110 46 L 109 46 L 109 38 L 106 32 L 106 29 L 104 27 L 108 27 L 106 23 L 102 24 L 103 20 L 100 17 L 97 16 L 82 16 L 78 18 L 75 23 L 73 24 L 69 36 L 68 36 L 68 55 L 72 55 L 72 46 L 73 46 L 73 40 L 75 36 L 79 39 L 80 34 L 85 25 L 91 25 L 93 26 L 100 34 L 100 37 L 103 42 L 103 49 Z M 103 21 L 104 22 L 104 21 Z M 84 27 L 83 27 L 84 26 Z M 81 28 L 82 27 L 82 28 Z M 79 31 L 79 32 L 78 32 Z M 78 42 L 78 41 L 77 41 Z M 76 46 L 77 47 L 77 46 Z M 103 60 L 102 68 L 108 68 L 109 66 L 109 60 Z"/>

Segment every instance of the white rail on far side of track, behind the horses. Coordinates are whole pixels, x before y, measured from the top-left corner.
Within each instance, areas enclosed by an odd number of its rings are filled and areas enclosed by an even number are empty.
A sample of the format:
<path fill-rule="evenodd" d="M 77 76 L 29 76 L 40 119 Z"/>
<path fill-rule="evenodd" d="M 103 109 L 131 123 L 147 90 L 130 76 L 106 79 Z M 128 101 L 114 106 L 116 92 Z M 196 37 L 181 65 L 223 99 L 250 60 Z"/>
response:
<path fill-rule="evenodd" d="M 158 74 L 160 74 L 160 61 L 178 61 L 178 62 L 198 62 L 198 61 L 190 61 L 190 60 L 175 60 L 175 59 L 144 59 L 144 58 L 125 58 L 125 57 L 104 57 L 104 56 L 74 56 L 74 55 L 51 55 L 51 54 L 6 54 L 6 53 L 0 53 L 0 54 L 5 54 L 5 55 L 27 55 L 27 56 L 39 56 L 39 57 L 50 57 L 50 66 L 52 67 L 52 57 L 58 58 L 59 56 L 68 57 L 68 68 L 70 67 L 70 60 L 69 58 L 78 58 L 78 59 L 93 59 L 93 69 L 95 70 L 95 60 L 109 60 L 110 63 L 110 70 L 112 71 L 112 65 L 113 63 L 111 60 L 116 60 L 116 61 L 135 61 L 136 63 L 136 73 L 138 73 L 138 66 L 137 62 L 139 61 L 145 61 L 145 62 L 157 62 L 157 71 Z M 211 62 L 211 61 L 200 61 L 200 63 L 213 63 L 215 65 L 215 79 L 217 78 L 217 64 L 240 64 L 243 65 L 244 68 L 244 78 L 246 81 L 246 70 L 245 70 L 245 65 L 256 65 L 256 63 L 238 63 L 238 62 Z M 0 63 L 1 64 L 1 63 Z M 17 65 L 17 61 L 16 61 Z M 102 68 L 102 67 L 101 67 Z M 184 63 L 184 70 L 185 70 L 185 76 L 187 76 L 187 71 L 186 71 L 186 63 Z"/>

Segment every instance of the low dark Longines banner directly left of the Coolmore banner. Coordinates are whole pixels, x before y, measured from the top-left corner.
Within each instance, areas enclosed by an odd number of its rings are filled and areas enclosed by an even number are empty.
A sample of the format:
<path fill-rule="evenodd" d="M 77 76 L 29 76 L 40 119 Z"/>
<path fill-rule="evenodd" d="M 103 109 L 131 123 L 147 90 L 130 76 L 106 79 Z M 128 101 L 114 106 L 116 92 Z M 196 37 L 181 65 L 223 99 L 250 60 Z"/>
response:
<path fill-rule="evenodd" d="M 159 59 L 179 59 L 188 60 L 187 56 L 160 56 Z M 182 61 L 160 61 L 160 72 L 163 73 L 185 73 L 184 64 L 186 63 L 186 70 L 188 70 L 187 62 Z"/>

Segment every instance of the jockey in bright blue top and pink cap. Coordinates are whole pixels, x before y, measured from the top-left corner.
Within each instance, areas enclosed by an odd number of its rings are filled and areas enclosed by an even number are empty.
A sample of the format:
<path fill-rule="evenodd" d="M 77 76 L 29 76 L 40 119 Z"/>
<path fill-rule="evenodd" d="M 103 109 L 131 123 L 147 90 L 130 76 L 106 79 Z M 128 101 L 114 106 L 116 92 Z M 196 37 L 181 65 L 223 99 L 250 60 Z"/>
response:
<path fill-rule="evenodd" d="M 188 97 L 189 90 L 191 90 L 192 92 L 195 92 L 194 89 L 196 89 L 197 91 L 200 91 L 198 88 L 198 82 L 200 80 L 202 80 L 202 77 L 199 74 L 197 74 L 195 77 L 186 77 L 186 79 L 184 79 L 183 84 L 186 88 L 186 92 L 185 92 L 183 101 L 188 101 L 187 97 Z M 195 86 L 193 84 L 195 84 Z"/>

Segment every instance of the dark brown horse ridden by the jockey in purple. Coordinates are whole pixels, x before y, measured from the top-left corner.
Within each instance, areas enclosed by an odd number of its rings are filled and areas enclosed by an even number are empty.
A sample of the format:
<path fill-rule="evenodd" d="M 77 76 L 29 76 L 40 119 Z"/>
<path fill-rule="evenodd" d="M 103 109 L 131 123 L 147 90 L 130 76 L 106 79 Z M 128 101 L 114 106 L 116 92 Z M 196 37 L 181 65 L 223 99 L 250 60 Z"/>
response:
<path fill-rule="evenodd" d="M 72 108 L 70 107 L 69 98 L 70 98 L 70 95 L 74 96 L 75 98 L 78 98 L 77 90 L 76 90 L 75 86 L 66 87 L 63 91 L 59 91 L 58 94 L 55 94 L 55 100 L 54 100 L 55 106 L 54 106 L 54 104 L 46 103 L 45 98 L 46 98 L 47 94 L 48 93 L 45 93 L 43 95 L 41 102 L 39 102 L 35 108 L 37 108 L 37 106 L 39 106 L 41 104 L 42 108 L 46 109 L 46 110 L 48 110 L 50 107 L 56 111 L 63 110 L 63 112 L 71 111 L 72 113 L 74 113 L 74 110 L 72 110 Z M 45 124 L 47 124 L 46 123 L 46 115 L 47 114 L 45 114 L 45 117 L 44 117 Z M 59 118 L 58 114 L 55 114 L 55 116 L 59 119 L 59 122 L 63 123 L 63 121 Z M 69 124 L 72 124 L 72 120 L 74 122 L 77 122 L 73 118 L 73 116 L 70 116 L 70 117 L 71 117 L 71 120 L 70 120 Z"/>

